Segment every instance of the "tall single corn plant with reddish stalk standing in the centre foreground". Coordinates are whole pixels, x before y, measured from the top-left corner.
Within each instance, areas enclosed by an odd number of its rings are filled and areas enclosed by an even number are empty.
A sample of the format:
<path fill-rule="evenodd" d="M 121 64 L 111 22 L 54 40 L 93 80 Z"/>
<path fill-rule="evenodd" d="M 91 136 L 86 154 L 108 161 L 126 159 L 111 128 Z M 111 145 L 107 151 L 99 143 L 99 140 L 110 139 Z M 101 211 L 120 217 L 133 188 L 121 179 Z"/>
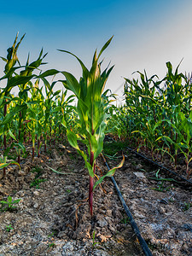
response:
<path fill-rule="evenodd" d="M 80 78 L 79 82 L 73 74 L 62 72 L 66 77 L 65 81 L 62 81 L 67 90 L 73 91 L 75 96 L 77 96 L 78 103 L 76 111 L 79 114 L 79 133 L 75 134 L 73 131 L 67 129 L 67 138 L 69 143 L 76 148 L 80 155 L 83 156 L 85 166 L 87 167 L 90 175 L 90 189 L 89 189 L 89 205 L 90 205 L 90 215 L 93 215 L 93 189 L 96 187 L 97 183 L 101 183 L 102 179 L 96 182 L 94 186 L 94 176 L 96 171 L 96 158 L 102 152 L 104 131 L 106 128 L 106 118 L 107 118 L 107 106 L 104 97 L 102 96 L 106 81 L 109 74 L 111 73 L 113 67 L 108 67 L 101 72 L 101 62 L 99 62 L 99 57 L 102 52 L 108 47 L 112 38 L 102 47 L 99 55 L 95 54 L 93 56 L 92 66 L 90 71 L 84 66 L 84 63 L 79 60 L 76 55 L 66 50 L 61 50 L 71 54 L 77 58 L 82 69 L 83 76 Z M 87 154 L 84 153 L 79 148 L 78 140 L 84 143 L 88 149 L 89 160 Z M 108 172 L 106 176 L 112 176 L 114 169 Z"/>

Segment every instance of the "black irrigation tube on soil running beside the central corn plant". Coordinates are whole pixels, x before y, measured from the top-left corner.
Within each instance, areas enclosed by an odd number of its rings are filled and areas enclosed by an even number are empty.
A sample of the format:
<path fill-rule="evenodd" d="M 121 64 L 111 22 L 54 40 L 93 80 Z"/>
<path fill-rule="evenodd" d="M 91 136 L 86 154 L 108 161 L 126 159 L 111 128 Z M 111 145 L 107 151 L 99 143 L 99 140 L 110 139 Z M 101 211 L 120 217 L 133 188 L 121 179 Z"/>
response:
<path fill-rule="evenodd" d="M 109 168 L 108 163 L 107 163 L 107 161 L 105 160 L 103 154 L 102 154 L 102 158 L 103 158 L 103 160 L 104 160 L 106 166 L 108 167 L 108 171 L 109 171 L 110 168 Z M 124 209 L 125 209 L 125 212 L 126 212 L 128 218 L 129 218 L 130 222 L 131 222 L 131 227 L 132 227 L 132 229 L 134 230 L 134 232 L 135 232 L 135 234 L 136 234 L 136 236 L 137 236 L 137 238 L 138 238 L 138 241 L 140 242 L 140 245 L 141 245 L 141 247 L 142 247 L 142 249 L 143 249 L 143 253 L 144 253 L 146 256 L 152 256 L 152 253 L 151 253 L 151 251 L 150 251 L 149 248 L 148 248 L 147 242 L 143 239 L 143 236 L 141 235 L 141 233 L 140 233 L 140 231 L 139 231 L 139 229 L 138 229 L 138 227 L 137 227 L 137 224 L 136 224 L 135 220 L 133 219 L 133 217 L 132 217 L 132 215 L 131 215 L 131 212 L 130 212 L 129 208 L 127 207 L 127 205 L 126 205 L 126 203 L 125 203 L 125 200 L 124 200 L 123 196 L 122 196 L 121 193 L 120 193 L 118 184 L 115 182 L 113 176 L 111 177 L 111 179 L 112 179 L 112 182 L 113 182 L 113 185 L 114 185 L 115 189 L 117 190 L 117 193 L 118 193 L 118 195 L 119 195 L 119 199 L 120 199 L 120 201 L 121 201 L 121 203 L 122 203 L 122 205 L 123 205 L 123 207 L 124 207 Z"/>

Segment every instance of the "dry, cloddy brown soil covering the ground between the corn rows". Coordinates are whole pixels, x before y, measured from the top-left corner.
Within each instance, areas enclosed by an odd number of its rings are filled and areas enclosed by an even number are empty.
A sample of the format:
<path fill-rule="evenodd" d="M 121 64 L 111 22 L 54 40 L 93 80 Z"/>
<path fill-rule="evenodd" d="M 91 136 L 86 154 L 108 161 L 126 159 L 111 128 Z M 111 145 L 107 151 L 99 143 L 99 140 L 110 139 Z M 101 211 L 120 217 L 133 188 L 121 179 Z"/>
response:
<path fill-rule="evenodd" d="M 107 160 L 113 167 L 120 158 Z M 98 176 L 107 172 L 102 157 L 96 166 Z M 125 164 L 114 178 L 152 254 L 191 255 L 191 190 L 152 179 L 157 171 L 125 152 Z M 0 212 L 0 255 L 144 255 L 110 178 L 94 190 L 93 218 L 88 189 L 84 161 L 68 145 L 42 152 L 34 162 L 29 154 L 21 159 L 20 170 L 9 166 L 0 200 L 10 195 L 20 201 Z"/>

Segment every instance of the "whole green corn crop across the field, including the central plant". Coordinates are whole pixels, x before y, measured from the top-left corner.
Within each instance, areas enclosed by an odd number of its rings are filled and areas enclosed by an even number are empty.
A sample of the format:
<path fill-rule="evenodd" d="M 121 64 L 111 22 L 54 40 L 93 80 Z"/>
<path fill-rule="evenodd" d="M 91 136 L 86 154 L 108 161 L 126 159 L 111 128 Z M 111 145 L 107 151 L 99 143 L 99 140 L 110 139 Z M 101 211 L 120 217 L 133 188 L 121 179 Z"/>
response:
<path fill-rule="evenodd" d="M 191 174 L 192 160 L 192 111 L 191 77 L 174 71 L 170 62 L 166 63 L 167 73 L 164 79 L 153 75 L 148 79 L 147 73 L 137 72 L 138 79 L 125 79 L 125 104 L 113 105 L 114 95 L 104 90 L 113 67 L 102 71 L 102 52 L 108 47 L 112 38 L 102 47 L 97 55 L 94 53 L 90 70 L 76 55 L 60 50 L 61 54 L 73 55 L 82 67 L 82 77 L 78 81 L 73 74 L 59 72 L 55 69 L 41 72 L 45 64 L 46 53 L 40 51 L 38 59 L 21 65 L 17 50 L 25 35 L 15 38 L 8 49 L 4 62 L 4 75 L 0 79 L 0 168 L 3 177 L 6 167 L 20 167 L 20 156 L 26 154 L 26 147 L 32 144 L 32 161 L 50 150 L 56 142 L 68 142 L 84 158 L 90 176 L 90 214 L 92 215 L 92 194 L 96 185 L 104 177 L 113 176 L 116 168 L 94 183 L 96 158 L 102 153 L 106 133 L 129 142 L 131 148 L 150 155 L 154 160 L 168 159 L 177 172 L 181 161 L 186 166 L 186 176 Z M 63 80 L 55 80 L 61 73 Z M 48 77 L 52 78 L 49 83 Z M 54 90 L 56 83 L 63 85 L 63 90 Z M 15 96 L 13 89 L 19 89 Z M 67 91 L 73 95 L 67 96 Z M 77 99 L 77 106 L 74 104 Z M 83 143 L 84 150 L 79 143 Z M 9 152 L 15 150 L 15 159 Z M 122 160 L 119 166 L 123 165 Z M 117 166 L 117 168 L 119 168 Z M 19 168 L 18 167 L 18 168 Z"/>

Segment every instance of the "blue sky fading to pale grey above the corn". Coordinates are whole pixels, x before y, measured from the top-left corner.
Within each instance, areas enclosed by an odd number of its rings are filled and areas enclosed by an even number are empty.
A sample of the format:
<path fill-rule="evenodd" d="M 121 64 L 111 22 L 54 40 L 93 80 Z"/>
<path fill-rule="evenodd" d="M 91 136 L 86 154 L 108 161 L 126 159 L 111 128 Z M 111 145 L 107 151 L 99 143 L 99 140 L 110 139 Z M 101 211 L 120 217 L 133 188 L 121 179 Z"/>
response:
<path fill-rule="evenodd" d="M 120 97 L 124 78 L 136 78 L 132 73 L 137 70 L 162 79 L 167 61 L 175 69 L 183 59 L 179 71 L 192 71 L 191 13 L 191 0 L 1 1 L 0 56 L 7 55 L 17 32 L 19 38 L 26 33 L 18 50 L 21 64 L 29 52 L 30 60 L 36 60 L 44 47 L 48 64 L 43 70 L 67 71 L 79 79 L 79 62 L 57 49 L 73 52 L 90 68 L 95 49 L 113 36 L 102 54 L 102 68 L 115 65 L 106 89 Z M 0 60 L 0 77 L 3 68 Z"/>

